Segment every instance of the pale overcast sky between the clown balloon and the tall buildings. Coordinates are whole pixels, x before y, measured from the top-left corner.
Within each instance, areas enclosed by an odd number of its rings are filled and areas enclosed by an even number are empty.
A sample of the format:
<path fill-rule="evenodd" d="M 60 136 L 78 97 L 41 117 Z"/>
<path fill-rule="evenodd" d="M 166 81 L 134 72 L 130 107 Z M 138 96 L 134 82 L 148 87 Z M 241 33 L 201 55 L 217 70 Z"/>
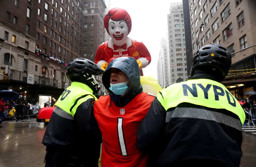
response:
<path fill-rule="evenodd" d="M 105 0 L 106 5 L 109 0 Z M 128 35 L 132 39 L 143 42 L 151 54 L 151 63 L 143 68 L 144 75 L 157 79 L 157 60 L 161 38 L 166 38 L 167 14 L 170 3 L 182 0 L 111 0 L 111 7 L 125 9 L 132 18 L 132 30 Z"/>

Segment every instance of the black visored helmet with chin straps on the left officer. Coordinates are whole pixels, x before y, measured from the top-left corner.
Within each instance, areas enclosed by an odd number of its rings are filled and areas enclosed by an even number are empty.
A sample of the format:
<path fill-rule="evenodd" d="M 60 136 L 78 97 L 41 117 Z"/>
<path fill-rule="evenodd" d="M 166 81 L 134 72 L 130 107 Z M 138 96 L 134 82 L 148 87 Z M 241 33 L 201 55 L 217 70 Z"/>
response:
<path fill-rule="evenodd" d="M 95 79 L 95 75 L 100 75 L 104 71 L 94 62 L 86 58 L 75 58 L 72 60 L 67 69 L 67 77 L 72 82 L 81 82 L 89 86 L 94 94 L 100 90 L 100 86 Z"/>

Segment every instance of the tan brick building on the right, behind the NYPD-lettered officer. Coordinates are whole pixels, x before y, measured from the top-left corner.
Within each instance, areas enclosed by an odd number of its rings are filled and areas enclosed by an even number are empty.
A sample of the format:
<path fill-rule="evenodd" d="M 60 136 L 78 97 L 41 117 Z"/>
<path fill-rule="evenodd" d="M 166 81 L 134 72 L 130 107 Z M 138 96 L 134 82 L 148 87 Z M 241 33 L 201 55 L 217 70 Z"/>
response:
<path fill-rule="evenodd" d="M 255 0 L 183 0 L 188 68 L 196 50 L 204 45 L 218 43 L 234 53 L 256 44 L 255 9 Z M 232 55 L 229 75 L 222 83 L 236 97 L 256 90 L 255 53 L 256 47 L 251 47 Z"/>

